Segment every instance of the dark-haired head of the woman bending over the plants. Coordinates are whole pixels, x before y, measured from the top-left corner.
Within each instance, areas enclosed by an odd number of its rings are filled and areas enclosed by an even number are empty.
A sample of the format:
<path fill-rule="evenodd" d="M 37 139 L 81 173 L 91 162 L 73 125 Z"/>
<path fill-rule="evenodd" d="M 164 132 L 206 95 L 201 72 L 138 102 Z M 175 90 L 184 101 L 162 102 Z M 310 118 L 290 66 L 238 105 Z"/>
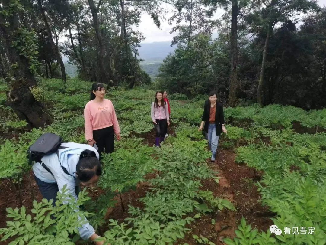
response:
<path fill-rule="evenodd" d="M 87 182 L 95 175 L 102 174 L 102 166 L 95 152 L 91 150 L 82 151 L 76 166 L 77 178 L 81 182 Z"/>

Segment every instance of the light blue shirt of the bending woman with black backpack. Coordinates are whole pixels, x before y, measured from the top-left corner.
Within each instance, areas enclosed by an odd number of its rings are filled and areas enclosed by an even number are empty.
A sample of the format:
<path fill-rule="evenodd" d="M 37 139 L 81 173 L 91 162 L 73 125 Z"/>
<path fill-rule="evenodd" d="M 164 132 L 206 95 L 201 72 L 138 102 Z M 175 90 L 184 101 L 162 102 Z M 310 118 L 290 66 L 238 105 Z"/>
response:
<path fill-rule="evenodd" d="M 62 143 L 61 146 L 68 147 L 66 149 L 59 149 L 59 158 L 61 165 L 66 168 L 68 174 L 63 172 L 58 156 L 56 153 L 50 155 L 45 155 L 42 157 L 42 162 L 50 169 L 54 176 L 44 169 L 39 162 L 33 165 L 33 172 L 35 176 L 43 182 L 46 183 L 57 183 L 59 191 L 62 191 L 64 185 L 67 185 L 67 193 L 77 200 L 76 195 L 76 165 L 79 161 L 80 154 L 84 150 L 94 151 L 97 159 L 99 159 L 99 154 L 96 149 L 90 145 L 78 144 L 78 143 Z M 91 237 L 95 230 L 87 222 L 81 228 L 79 228 L 80 237 L 87 240 Z"/>

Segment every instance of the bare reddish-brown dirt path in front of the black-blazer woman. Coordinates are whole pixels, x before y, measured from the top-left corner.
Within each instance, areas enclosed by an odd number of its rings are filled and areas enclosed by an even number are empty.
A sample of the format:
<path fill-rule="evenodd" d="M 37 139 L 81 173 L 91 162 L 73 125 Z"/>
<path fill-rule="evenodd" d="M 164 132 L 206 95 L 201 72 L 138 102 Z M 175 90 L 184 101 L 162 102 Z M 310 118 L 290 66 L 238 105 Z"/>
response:
<path fill-rule="evenodd" d="M 194 221 L 188 228 L 191 231 L 186 234 L 184 239 L 177 244 L 188 243 L 189 245 L 198 244 L 192 237 L 193 234 L 203 236 L 214 242 L 216 245 L 224 244 L 223 238 L 235 237 L 235 230 L 240 224 L 242 216 L 250 223 L 253 228 L 266 231 L 272 224 L 269 219 L 274 215 L 268 208 L 259 203 L 260 195 L 257 187 L 253 186 L 250 193 L 250 206 L 248 187 L 244 178 L 259 179 L 262 172 L 254 176 L 254 170 L 245 164 L 239 165 L 234 162 L 235 153 L 231 150 L 221 150 L 217 160 L 212 164 L 211 169 L 218 172 L 219 183 L 214 179 L 207 179 L 201 182 L 202 190 L 210 190 L 215 197 L 228 199 L 236 207 L 236 211 L 224 209 L 220 212 L 212 212 L 202 215 L 200 219 Z M 214 220 L 214 221 L 212 221 Z"/>

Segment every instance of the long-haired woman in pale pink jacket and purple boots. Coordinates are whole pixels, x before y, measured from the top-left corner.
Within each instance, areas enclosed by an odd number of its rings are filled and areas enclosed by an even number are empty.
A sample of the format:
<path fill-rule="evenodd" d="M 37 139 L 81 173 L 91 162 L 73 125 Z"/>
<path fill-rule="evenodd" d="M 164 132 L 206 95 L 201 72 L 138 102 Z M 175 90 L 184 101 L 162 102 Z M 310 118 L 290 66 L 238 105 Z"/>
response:
<path fill-rule="evenodd" d="M 151 116 L 156 130 L 155 145 L 159 146 L 164 141 L 167 125 L 170 125 L 168 104 L 164 101 L 163 93 L 160 91 L 156 92 L 155 101 L 152 102 Z"/>

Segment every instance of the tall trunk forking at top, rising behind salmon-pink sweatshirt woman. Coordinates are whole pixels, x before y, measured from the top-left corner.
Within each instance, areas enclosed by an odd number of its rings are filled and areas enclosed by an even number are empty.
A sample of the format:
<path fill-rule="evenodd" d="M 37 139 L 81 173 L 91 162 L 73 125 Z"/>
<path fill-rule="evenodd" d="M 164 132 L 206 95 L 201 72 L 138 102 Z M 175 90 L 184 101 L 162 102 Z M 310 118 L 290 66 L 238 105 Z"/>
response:
<path fill-rule="evenodd" d="M 109 83 L 109 77 L 107 76 L 107 74 L 105 72 L 105 66 L 104 66 L 104 53 L 105 53 L 104 41 L 103 41 L 103 37 L 100 33 L 98 16 L 97 16 L 99 7 L 101 6 L 101 2 L 102 2 L 102 0 L 99 0 L 97 8 L 95 7 L 93 0 L 88 0 L 88 5 L 92 12 L 94 28 L 95 28 L 95 33 L 96 33 L 97 62 L 98 62 L 98 67 L 99 67 L 100 82 Z"/>

